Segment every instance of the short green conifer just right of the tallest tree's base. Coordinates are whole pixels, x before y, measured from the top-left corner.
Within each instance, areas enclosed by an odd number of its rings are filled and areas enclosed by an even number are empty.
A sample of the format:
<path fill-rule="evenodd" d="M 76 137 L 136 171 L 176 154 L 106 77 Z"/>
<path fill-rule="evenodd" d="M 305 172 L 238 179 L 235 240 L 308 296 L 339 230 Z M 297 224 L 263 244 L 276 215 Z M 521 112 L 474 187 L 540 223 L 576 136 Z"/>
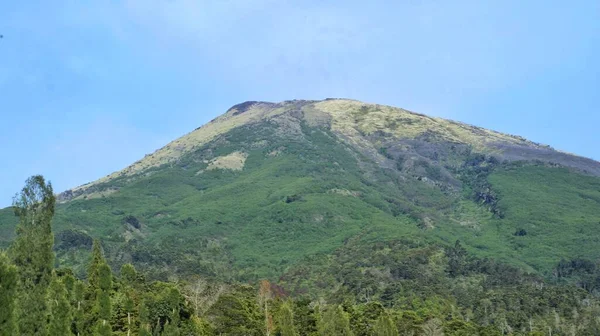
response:
<path fill-rule="evenodd" d="M 48 334 L 71 335 L 71 306 L 65 285 L 56 276 L 48 289 Z"/>

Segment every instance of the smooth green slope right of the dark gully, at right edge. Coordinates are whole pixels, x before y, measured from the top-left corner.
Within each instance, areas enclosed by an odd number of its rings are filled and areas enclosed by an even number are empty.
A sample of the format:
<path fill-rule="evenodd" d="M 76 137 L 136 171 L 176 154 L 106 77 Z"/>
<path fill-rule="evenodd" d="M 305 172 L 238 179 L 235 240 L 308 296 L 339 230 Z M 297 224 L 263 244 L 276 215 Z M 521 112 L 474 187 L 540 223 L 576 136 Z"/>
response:
<path fill-rule="evenodd" d="M 499 170 L 489 180 L 505 213 L 496 220 L 498 230 L 519 259 L 547 271 L 562 258 L 600 258 L 599 178 L 525 166 Z"/>

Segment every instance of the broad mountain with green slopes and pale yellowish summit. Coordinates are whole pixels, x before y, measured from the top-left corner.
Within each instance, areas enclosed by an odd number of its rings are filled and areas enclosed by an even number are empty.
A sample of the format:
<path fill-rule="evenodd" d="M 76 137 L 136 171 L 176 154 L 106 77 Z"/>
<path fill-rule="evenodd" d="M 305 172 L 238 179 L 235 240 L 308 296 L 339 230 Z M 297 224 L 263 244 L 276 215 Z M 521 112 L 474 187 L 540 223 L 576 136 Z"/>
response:
<path fill-rule="evenodd" d="M 594 160 L 400 108 L 245 102 L 61 193 L 54 232 L 62 265 L 82 265 L 98 237 L 113 266 L 156 278 L 285 279 L 398 240 L 460 240 L 550 277 L 561 260 L 600 258 L 599 176 Z M 2 246 L 15 222 L 0 211 Z"/>

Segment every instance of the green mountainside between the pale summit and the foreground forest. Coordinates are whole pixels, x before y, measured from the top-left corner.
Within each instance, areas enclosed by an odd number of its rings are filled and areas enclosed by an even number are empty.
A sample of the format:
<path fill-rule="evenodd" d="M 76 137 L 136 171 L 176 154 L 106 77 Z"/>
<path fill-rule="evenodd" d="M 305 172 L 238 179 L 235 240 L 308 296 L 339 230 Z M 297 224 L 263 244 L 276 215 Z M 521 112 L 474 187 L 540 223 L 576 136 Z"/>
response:
<path fill-rule="evenodd" d="M 479 257 L 546 276 L 561 259 L 600 257 L 597 177 L 464 146 L 416 160 L 388 146 L 382 152 L 395 168 L 383 169 L 327 129 L 294 125 L 238 127 L 176 163 L 96 187 L 117 192 L 58 204 L 59 264 L 84 276 L 101 238 L 115 269 L 256 281 L 365 231 L 366 241 L 461 240 Z M 208 169 L 236 152 L 247 154 L 242 170 Z M 12 212 L 0 211 L 0 246 L 12 240 Z"/>

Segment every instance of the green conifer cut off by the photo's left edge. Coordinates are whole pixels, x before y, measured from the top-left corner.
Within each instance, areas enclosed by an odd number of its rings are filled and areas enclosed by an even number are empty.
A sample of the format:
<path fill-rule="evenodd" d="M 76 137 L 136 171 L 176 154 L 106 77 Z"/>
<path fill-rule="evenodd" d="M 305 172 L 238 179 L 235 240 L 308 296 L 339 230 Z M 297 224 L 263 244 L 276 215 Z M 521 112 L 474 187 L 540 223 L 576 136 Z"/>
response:
<path fill-rule="evenodd" d="M 0 252 L 0 336 L 16 335 L 17 268 Z"/>

